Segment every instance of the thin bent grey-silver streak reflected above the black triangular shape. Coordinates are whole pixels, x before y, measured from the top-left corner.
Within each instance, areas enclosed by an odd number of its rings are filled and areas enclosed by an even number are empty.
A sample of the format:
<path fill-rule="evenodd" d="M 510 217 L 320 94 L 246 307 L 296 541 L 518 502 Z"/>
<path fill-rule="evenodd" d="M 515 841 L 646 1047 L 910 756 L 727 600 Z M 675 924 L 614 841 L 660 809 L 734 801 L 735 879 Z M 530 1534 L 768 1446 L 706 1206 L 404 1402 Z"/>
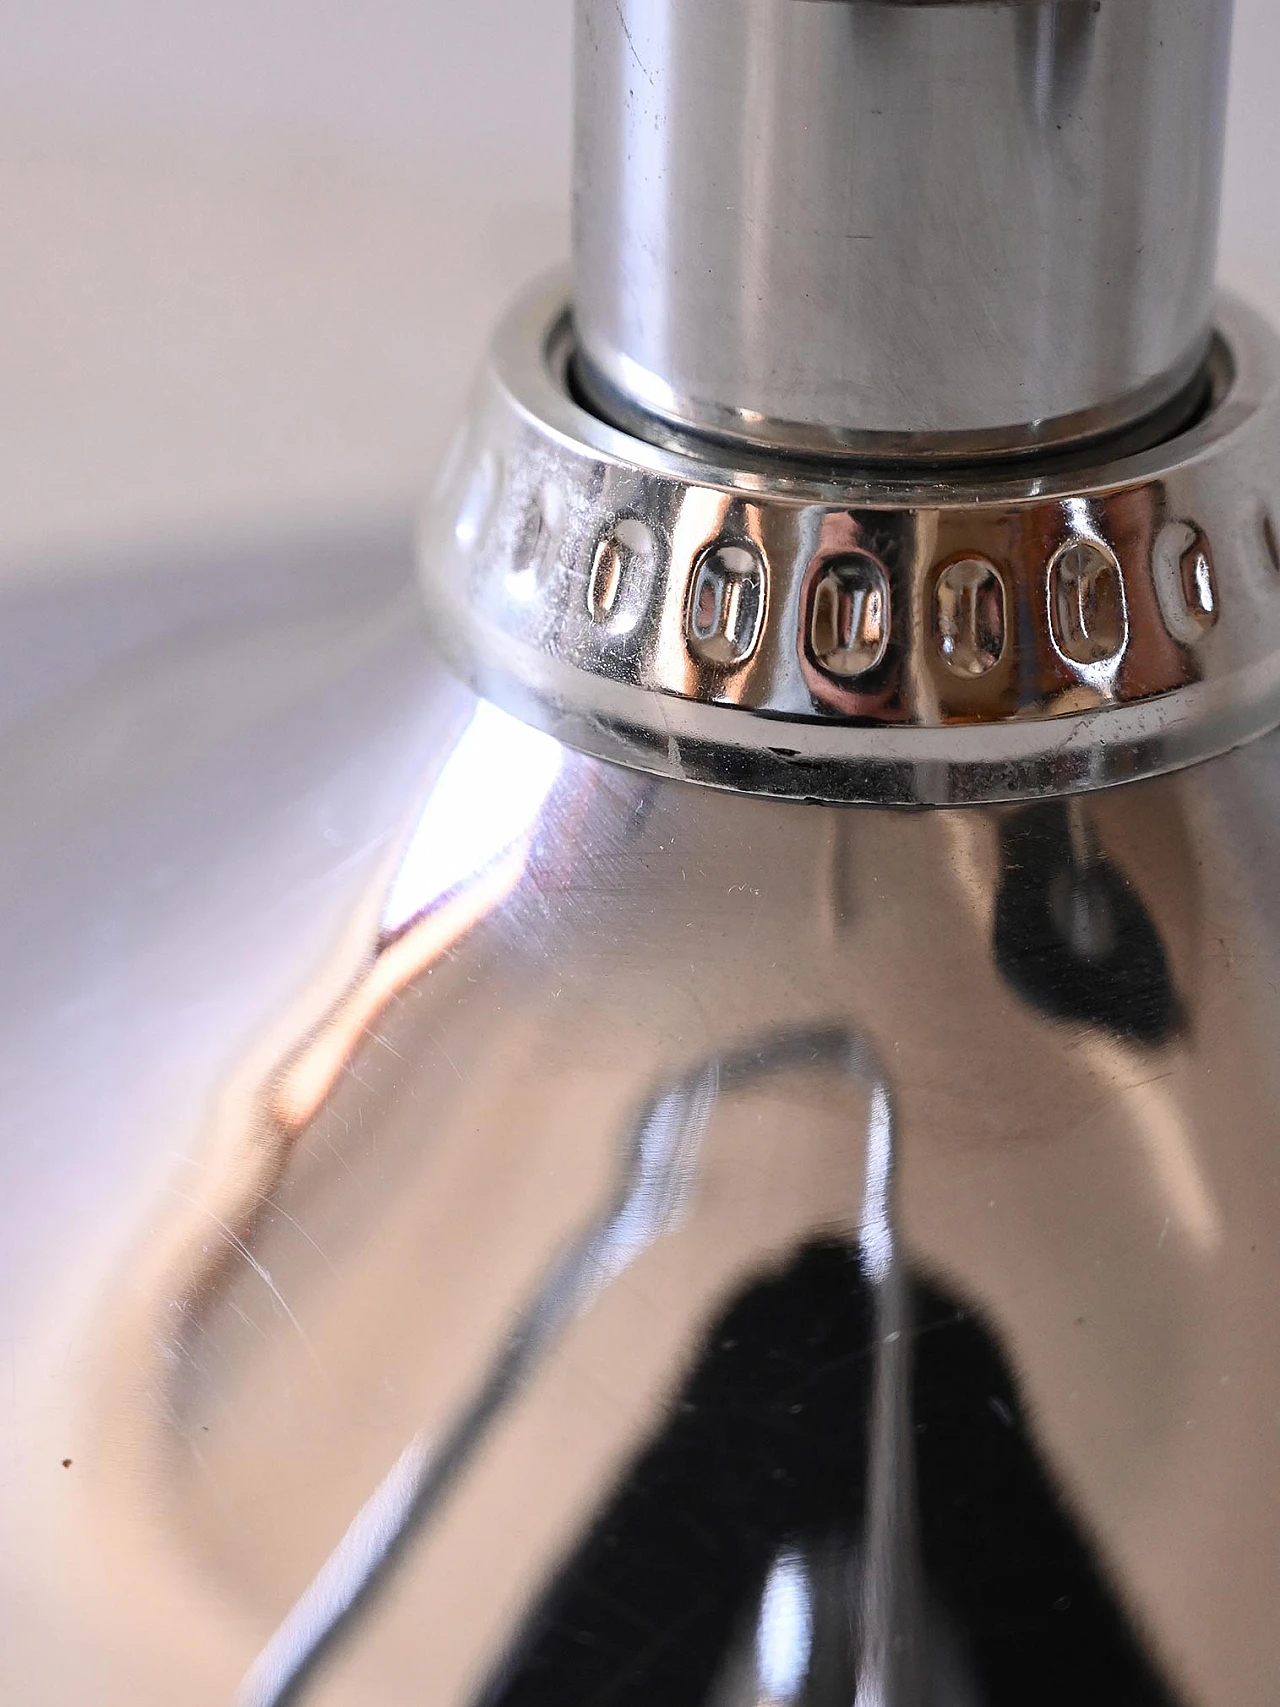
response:
<path fill-rule="evenodd" d="M 759 1046 L 712 1058 L 657 1092 L 631 1130 L 614 1202 L 551 1265 L 452 1429 L 430 1449 L 410 1442 L 254 1661 L 237 1692 L 237 1707 L 288 1707 L 299 1700 L 317 1664 L 382 1588 L 560 1330 L 647 1246 L 679 1224 L 701 1137 L 720 1094 L 790 1067 L 821 1065 L 843 1067 L 872 1089 L 869 1156 L 874 1178 L 869 1178 L 864 1231 L 872 1263 L 886 1270 L 893 1265 L 887 1229 L 891 1110 L 887 1089 L 860 1041 L 841 1031 L 782 1033 Z"/>

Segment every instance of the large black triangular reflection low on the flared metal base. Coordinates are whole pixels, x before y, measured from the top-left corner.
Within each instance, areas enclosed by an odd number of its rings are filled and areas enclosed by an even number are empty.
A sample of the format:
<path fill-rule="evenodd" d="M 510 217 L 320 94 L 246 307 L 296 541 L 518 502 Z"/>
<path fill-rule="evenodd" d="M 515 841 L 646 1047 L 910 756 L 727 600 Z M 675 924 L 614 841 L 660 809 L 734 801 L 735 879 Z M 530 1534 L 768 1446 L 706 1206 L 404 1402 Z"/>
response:
<path fill-rule="evenodd" d="M 876 1284 L 828 1239 L 713 1325 L 483 1707 L 1171 1707 L 992 1330 L 923 1279 L 910 1309 L 898 1446 L 918 1514 L 894 1541 L 918 1535 L 922 1593 L 884 1630 L 896 1671 L 867 1620 Z"/>

